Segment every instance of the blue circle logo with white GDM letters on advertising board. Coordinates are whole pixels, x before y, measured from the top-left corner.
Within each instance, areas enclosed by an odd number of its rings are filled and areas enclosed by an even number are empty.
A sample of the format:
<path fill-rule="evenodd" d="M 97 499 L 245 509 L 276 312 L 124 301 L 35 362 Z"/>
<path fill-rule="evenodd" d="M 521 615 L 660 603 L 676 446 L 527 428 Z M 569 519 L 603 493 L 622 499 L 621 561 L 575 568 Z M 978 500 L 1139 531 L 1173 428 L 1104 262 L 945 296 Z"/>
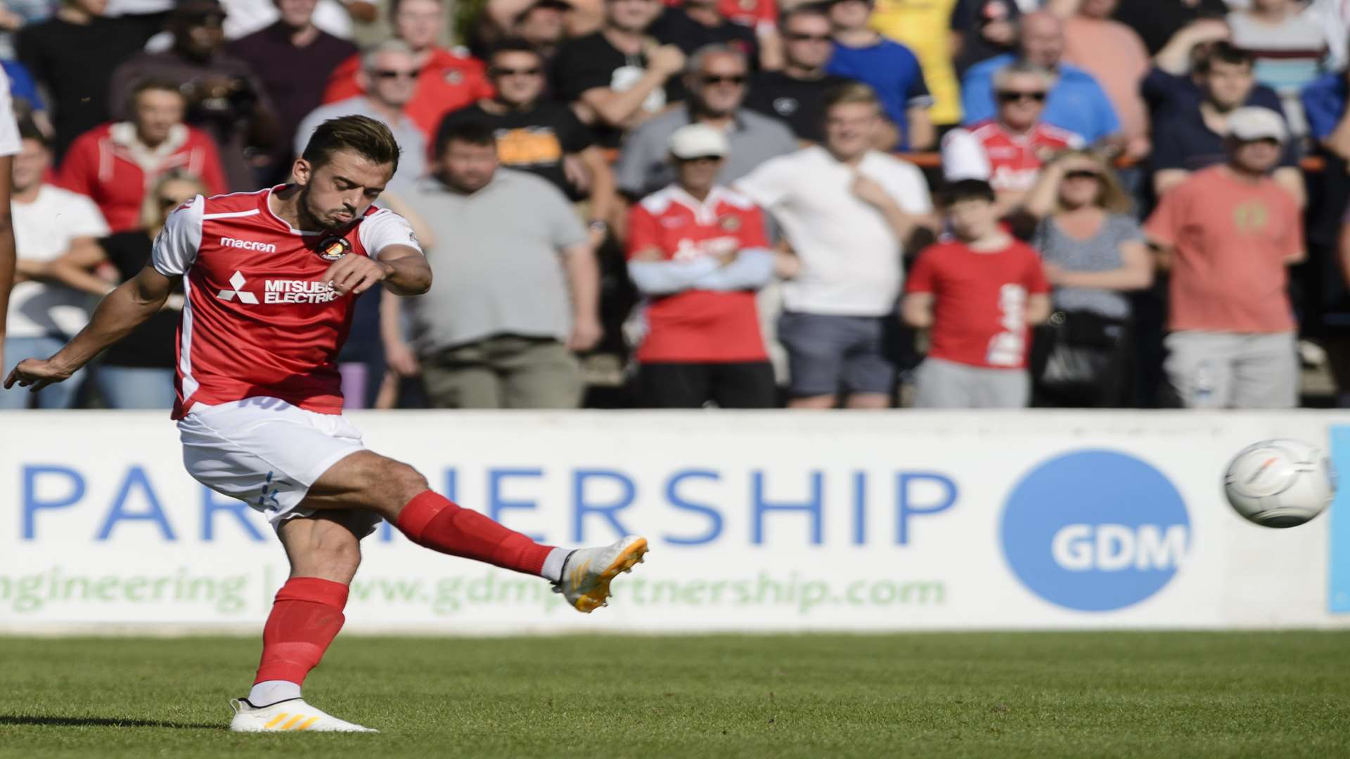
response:
<path fill-rule="evenodd" d="M 999 525 L 1022 585 L 1066 609 L 1110 612 L 1162 589 L 1191 546 L 1172 482 L 1118 451 L 1076 451 L 1033 469 Z"/>

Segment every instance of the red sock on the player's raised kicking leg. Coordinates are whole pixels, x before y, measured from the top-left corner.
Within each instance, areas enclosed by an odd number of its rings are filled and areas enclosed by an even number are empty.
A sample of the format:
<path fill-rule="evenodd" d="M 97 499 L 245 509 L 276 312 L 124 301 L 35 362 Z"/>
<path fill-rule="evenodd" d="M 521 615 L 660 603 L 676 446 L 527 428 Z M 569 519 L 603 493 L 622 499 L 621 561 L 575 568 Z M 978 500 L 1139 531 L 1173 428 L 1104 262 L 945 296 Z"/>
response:
<path fill-rule="evenodd" d="M 432 551 L 526 574 L 540 574 L 554 550 L 432 490 L 420 493 L 398 512 L 398 529 Z"/>

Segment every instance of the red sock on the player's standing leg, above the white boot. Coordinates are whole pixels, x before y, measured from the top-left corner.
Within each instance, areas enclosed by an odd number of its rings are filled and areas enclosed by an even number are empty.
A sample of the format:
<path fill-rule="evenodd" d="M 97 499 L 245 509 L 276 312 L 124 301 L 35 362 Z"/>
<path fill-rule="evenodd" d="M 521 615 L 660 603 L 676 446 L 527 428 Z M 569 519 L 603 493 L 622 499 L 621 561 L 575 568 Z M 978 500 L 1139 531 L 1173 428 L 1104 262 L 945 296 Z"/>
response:
<path fill-rule="evenodd" d="M 262 628 L 262 663 L 255 683 L 282 679 L 304 685 L 338 636 L 347 586 L 317 577 L 293 577 L 277 592 Z"/>

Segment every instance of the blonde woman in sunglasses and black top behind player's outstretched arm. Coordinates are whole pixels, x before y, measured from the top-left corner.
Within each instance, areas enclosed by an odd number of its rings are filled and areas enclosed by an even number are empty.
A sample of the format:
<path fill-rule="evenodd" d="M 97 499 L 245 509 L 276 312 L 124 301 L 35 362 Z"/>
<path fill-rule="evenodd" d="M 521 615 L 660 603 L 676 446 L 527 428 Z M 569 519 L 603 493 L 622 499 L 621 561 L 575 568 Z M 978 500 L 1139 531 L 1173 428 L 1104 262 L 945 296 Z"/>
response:
<path fill-rule="evenodd" d="M 136 228 L 99 238 L 96 244 L 72 248 L 51 263 L 50 276 L 74 289 L 103 297 L 135 277 L 150 262 L 150 247 L 165 217 L 174 208 L 211 190 L 196 177 L 169 172 L 150 182 Z M 93 274 L 103 265 L 116 270 L 113 281 Z M 93 381 L 108 408 L 171 408 L 174 402 L 174 347 L 182 312 L 182 284 L 150 321 L 127 335 L 107 352 Z"/>

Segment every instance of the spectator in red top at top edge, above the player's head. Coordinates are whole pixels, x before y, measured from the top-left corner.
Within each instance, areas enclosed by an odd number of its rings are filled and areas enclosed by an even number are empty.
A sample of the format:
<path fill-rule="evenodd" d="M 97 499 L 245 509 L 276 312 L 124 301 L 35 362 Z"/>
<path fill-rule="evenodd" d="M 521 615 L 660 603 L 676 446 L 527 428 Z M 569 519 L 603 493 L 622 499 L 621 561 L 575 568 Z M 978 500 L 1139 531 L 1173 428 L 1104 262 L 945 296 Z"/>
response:
<path fill-rule="evenodd" d="M 390 0 L 389 14 L 394 22 L 394 35 L 413 51 L 417 89 L 404 107 L 429 140 L 446 113 L 468 105 L 481 97 L 491 97 L 483 62 L 460 50 L 447 50 L 436 41 L 446 28 L 446 8 L 441 0 Z M 352 55 L 336 69 L 324 90 L 324 103 L 355 97 L 362 92 L 358 76 L 360 55 Z"/>

